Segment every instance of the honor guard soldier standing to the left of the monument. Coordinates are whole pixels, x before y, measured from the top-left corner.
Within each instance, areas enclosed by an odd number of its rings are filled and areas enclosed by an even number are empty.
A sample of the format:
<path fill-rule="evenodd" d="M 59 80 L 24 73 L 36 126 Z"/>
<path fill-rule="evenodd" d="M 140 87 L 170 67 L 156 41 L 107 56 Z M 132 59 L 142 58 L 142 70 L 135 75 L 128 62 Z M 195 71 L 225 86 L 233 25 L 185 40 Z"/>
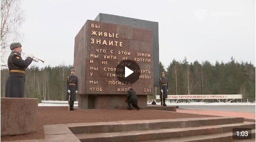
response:
<path fill-rule="evenodd" d="M 71 69 L 70 73 L 71 74 L 68 75 L 66 79 L 66 100 L 69 104 L 68 110 L 74 110 L 74 101 L 76 100 L 76 92 L 78 89 L 78 78 L 74 75 L 74 69 Z"/>

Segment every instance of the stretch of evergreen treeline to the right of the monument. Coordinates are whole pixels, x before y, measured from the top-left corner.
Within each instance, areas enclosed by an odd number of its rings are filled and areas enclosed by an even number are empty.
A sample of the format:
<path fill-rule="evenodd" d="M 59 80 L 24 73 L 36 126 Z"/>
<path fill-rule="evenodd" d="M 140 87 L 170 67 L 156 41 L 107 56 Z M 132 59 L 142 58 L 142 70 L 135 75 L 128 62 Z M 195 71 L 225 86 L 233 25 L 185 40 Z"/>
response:
<path fill-rule="evenodd" d="M 173 59 L 166 69 L 159 62 L 159 72 L 164 71 L 169 80 L 168 94 L 242 94 L 242 101 L 255 101 L 255 66 L 230 59 L 214 64 L 207 60 L 189 63 L 186 57 L 182 61 Z"/>

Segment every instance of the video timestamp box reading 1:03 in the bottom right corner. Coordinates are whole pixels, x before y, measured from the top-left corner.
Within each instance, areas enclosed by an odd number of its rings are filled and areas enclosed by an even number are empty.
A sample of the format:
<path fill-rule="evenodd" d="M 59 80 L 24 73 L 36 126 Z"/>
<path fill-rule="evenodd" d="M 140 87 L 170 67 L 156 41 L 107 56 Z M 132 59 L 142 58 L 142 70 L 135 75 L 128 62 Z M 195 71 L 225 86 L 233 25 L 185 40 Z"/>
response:
<path fill-rule="evenodd" d="M 233 128 L 233 139 L 251 139 L 251 128 Z"/>

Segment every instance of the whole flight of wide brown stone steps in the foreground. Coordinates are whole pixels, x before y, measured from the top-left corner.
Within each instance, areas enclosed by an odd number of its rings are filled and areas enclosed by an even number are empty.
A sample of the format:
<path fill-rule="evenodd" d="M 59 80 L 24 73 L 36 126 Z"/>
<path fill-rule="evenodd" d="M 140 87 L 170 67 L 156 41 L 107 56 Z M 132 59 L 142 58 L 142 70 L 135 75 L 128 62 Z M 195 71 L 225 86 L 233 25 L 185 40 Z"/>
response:
<path fill-rule="evenodd" d="M 244 122 L 242 117 L 207 117 L 80 123 L 67 126 L 81 142 L 166 141 L 166 139 L 182 141 L 182 138 L 189 141 L 189 137 L 190 141 L 196 141 L 196 138 L 197 141 L 221 141 L 221 137 L 223 140 L 231 141 L 232 128 L 255 129 L 255 122 Z M 255 138 L 255 130 L 252 136 Z"/>

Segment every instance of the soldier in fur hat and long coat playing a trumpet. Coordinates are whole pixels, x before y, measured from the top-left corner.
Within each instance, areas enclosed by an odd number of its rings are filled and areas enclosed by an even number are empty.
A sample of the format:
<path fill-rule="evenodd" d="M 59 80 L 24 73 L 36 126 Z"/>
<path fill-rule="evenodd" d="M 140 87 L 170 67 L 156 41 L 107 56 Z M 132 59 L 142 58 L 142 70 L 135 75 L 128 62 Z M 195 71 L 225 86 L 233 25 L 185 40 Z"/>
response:
<path fill-rule="evenodd" d="M 29 54 L 25 60 L 21 58 L 21 44 L 10 44 L 11 53 L 7 60 L 9 75 L 6 79 L 5 97 L 24 97 L 25 69 L 32 62 L 33 54 Z"/>

